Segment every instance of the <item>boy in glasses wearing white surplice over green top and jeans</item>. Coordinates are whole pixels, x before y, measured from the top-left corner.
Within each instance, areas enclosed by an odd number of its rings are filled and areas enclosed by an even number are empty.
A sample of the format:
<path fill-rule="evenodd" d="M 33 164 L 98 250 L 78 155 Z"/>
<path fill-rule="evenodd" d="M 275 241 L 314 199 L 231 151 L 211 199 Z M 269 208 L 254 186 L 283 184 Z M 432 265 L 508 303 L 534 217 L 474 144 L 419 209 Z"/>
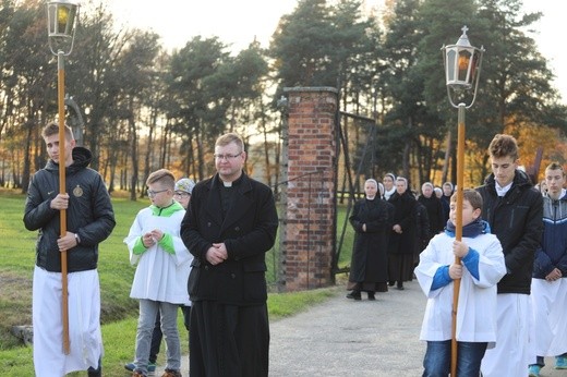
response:
<path fill-rule="evenodd" d="M 185 210 L 173 200 L 176 180 L 166 169 L 149 174 L 146 184 L 152 205 L 142 209 L 124 243 L 130 263 L 136 265 L 130 296 L 140 301 L 134 374 L 147 376 L 152 332 L 161 315 L 161 332 L 167 344 L 164 377 L 181 376 L 181 348 L 177 328 L 179 305 L 190 305 L 185 283 L 192 256 L 180 238 Z"/>

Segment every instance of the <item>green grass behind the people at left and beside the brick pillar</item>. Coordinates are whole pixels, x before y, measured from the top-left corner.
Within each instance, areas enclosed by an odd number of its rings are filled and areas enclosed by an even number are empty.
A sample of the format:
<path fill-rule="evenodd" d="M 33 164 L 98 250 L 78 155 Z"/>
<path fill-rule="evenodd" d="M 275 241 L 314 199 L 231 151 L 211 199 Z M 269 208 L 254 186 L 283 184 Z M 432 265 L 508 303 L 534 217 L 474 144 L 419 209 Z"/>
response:
<path fill-rule="evenodd" d="M 98 270 L 101 285 L 101 321 L 105 342 L 105 375 L 124 375 L 123 363 L 134 353 L 137 321 L 137 301 L 129 297 L 134 267 L 130 266 L 128 250 L 122 240 L 128 234 L 135 214 L 147 206 L 147 200 L 131 202 L 126 195 L 114 195 L 112 204 L 117 227 L 108 240 L 100 244 Z M 123 196 L 123 197 L 122 197 Z M 32 275 L 35 264 L 36 232 L 29 232 L 22 222 L 25 195 L 0 188 L 0 374 L 2 376 L 33 376 L 32 348 L 23 346 L 10 335 L 14 325 L 32 324 Z M 338 232 L 345 221 L 345 209 L 339 208 Z M 338 238 L 338 236 L 337 236 Z M 352 230 L 347 227 L 339 267 L 350 263 Z M 278 243 L 276 242 L 276 246 Z M 268 269 L 275 266 L 277 251 L 267 254 Z M 277 267 L 277 266 L 276 266 Z M 275 270 L 267 273 L 274 281 Z M 270 319 L 289 316 L 306 306 L 337 294 L 336 288 L 297 293 L 270 293 Z M 182 315 L 179 315 L 182 329 Z M 183 352 L 188 351 L 188 335 L 182 336 Z M 162 356 L 162 355 L 161 355 Z M 83 376 L 84 373 L 72 374 Z"/>

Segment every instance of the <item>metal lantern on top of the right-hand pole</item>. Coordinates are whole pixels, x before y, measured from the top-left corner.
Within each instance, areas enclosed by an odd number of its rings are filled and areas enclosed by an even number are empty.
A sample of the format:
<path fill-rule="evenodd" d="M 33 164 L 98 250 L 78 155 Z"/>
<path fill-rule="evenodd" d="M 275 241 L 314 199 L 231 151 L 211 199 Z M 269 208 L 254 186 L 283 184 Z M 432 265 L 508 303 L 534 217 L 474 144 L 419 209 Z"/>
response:
<path fill-rule="evenodd" d="M 447 93 L 454 107 L 457 107 L 457 105 L 453 101 L 451 90 L 461 92 L 474 87 L 472 101 L 468 106 L 470 107 L 474 102 L 476 88 L 479 86 L 480 69 L 484 48 L 471 46 L 469 37 L 467 36 L 468 29 L 467 26 L 462 27 L 462 35 L 456 45 L 444 46 L 442 48 L 445 62 Z"/>

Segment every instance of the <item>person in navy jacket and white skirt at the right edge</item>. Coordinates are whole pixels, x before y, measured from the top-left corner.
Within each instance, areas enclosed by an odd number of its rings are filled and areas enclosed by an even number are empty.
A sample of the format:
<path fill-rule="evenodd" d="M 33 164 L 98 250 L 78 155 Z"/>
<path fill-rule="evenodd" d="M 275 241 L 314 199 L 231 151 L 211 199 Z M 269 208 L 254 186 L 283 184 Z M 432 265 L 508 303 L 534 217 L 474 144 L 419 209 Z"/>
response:
<path fill-rule="evenodd" d="M 555 356 L 555 368 L 567 369 L 567 193 L 559 163 L 547 166 L 545 184 L 543 240 L 531 281 L 530 377 L 540 376 L 543 356 Z"/>

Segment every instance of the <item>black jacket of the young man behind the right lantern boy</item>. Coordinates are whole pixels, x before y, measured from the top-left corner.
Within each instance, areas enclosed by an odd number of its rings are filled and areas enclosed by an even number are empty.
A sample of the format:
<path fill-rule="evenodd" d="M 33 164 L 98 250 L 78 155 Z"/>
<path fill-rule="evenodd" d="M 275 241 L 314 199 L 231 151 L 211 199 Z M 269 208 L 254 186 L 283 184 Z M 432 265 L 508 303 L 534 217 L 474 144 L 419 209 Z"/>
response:
<path fill-rule="evenodd" d="M 498 282 L 498 293 L 530 294 L 535 251 L 543 231 L 543 198 L 528 175 L 516 170 L 505 196 L 496 194 L 494 174 L 476 188 L 483 198 L 482 218 L 502 243 L 508 273 Z"/>

